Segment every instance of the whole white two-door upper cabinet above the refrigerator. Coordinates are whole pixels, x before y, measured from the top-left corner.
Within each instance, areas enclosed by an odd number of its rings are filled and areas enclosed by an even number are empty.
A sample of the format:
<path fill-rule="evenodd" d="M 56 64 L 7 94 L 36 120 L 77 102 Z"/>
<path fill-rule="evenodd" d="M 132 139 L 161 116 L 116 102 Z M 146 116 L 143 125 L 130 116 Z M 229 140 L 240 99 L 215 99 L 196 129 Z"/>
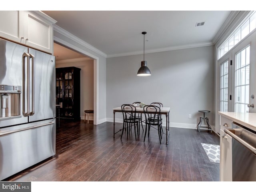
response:
<path fill-rule="evenodd" d="M 40 11 L 0 11 L 0 37 L 53 54 L 56 20 Z"/>

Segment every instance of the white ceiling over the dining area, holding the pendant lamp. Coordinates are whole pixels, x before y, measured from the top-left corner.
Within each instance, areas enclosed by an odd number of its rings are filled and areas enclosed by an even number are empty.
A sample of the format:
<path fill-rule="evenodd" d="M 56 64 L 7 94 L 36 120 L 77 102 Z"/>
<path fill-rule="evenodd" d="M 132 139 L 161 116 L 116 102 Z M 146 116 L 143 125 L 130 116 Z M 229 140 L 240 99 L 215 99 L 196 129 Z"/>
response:
<path fill-rule="evenodd" d="M 43 12 L 57 20 L 57 26 L 113 57 L 143 53 L 143 31 L 145 52 L 212 45 L 232 11 Z M 196 27 L 197 22 L 205 24 Z"/>

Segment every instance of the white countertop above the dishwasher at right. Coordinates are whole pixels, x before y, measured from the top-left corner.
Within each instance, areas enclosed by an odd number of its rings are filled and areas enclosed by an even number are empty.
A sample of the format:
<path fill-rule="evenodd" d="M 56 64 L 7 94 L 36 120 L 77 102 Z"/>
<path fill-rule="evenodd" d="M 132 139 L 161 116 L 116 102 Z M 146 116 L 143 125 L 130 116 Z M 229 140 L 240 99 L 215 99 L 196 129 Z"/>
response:
<path fill-rule="evenodd" d="M 218 114 L 256 131 L 256 113 L 218 112 Z"/>

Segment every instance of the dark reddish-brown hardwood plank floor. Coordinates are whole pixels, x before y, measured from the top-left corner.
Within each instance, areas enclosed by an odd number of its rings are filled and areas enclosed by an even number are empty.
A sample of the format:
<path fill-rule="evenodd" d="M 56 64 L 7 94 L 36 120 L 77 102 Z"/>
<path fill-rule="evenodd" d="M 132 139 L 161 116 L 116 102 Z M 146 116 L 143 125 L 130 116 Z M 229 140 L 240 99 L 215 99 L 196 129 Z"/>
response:
<path fill-rule="evenodd" d="M 61 120 L 56 156 L 6 181 L 219 181 L 219 164 L 209 161 L 201 142 L 220 144 L 214 132 L 170 128 L 169 144 L 157 131 L 143 142 L 134 130 L 113 138 L 113 123 L 93 125 Z M 122 128 L 116 123 L 116 130 Z"/>

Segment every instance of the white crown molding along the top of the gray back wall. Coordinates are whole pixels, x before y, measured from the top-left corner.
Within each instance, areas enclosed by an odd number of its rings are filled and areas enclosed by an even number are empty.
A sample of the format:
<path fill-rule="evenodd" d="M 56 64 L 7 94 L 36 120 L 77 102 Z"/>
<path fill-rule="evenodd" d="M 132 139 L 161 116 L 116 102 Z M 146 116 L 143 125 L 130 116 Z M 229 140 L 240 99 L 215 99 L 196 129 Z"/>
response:
<path fill-rule="evenodd" d="M 150 49 L 150 50 L 145 50 L 145 53 L 173 51 L 173 50 L 181 50 L 181 49 L 188 49 L 188 48 L 206 47 L 206 46 L 212 46 L 212 45 L 214 45 L 212 42 L 202 42 L 202 43 L 194 43 L 194 44 L 187 44 L 187 45 L 181 45 L 181 46 L 171 46 L 171 47 L 165 47 L 165 48 L 159 48 L 159 49 Z M 107 58 L 139 55 L 139 54 L 143 54 L 143 51 L 112 54 L 112 55 L 108 55 Z"/>

